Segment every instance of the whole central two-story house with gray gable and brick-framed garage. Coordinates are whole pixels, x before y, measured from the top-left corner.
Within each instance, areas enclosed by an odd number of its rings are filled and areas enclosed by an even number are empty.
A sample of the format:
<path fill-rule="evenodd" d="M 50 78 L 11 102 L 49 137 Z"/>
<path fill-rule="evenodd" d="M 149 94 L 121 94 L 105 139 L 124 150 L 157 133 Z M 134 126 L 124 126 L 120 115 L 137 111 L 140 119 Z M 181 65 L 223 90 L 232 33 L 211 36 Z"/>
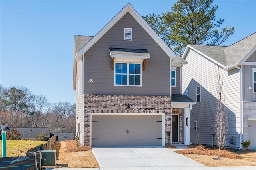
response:
<path fill-rule="evenodd" d="M 190 143 L 192 101 L 178 57 L 127 4 L 94 37 L 74 37 L 76 132 L 87 146 Z"/>

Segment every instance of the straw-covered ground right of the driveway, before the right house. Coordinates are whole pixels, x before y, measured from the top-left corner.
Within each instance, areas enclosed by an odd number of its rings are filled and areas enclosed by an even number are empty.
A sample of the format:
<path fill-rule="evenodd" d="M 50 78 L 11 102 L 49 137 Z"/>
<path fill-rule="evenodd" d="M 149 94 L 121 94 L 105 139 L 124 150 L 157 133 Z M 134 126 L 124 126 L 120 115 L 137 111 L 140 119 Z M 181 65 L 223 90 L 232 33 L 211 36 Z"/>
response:
<path fill-rule="evenodd" d="M 218 150 L 200 145 L 195 148 L 175 151 L 206 166 L 256 166 L 256 151 Z"/>

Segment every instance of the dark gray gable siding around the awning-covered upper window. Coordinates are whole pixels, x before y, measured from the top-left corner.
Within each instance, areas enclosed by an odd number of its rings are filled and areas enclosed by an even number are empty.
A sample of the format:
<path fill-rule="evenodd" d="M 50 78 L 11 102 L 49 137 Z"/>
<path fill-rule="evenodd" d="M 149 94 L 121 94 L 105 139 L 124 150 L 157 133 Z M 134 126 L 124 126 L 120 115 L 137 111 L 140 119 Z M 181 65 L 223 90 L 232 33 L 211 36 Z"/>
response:
<path fill-rule="evenodd" d="M 124 28 L 132 28 L 132 41 L 124 41 Z M 142 87 L 114 86 L 110 47 L 148 50 Z M 170 95 L 170 58 L 129 13 L 85 53 L 84 62 L 85 94 Z"/>

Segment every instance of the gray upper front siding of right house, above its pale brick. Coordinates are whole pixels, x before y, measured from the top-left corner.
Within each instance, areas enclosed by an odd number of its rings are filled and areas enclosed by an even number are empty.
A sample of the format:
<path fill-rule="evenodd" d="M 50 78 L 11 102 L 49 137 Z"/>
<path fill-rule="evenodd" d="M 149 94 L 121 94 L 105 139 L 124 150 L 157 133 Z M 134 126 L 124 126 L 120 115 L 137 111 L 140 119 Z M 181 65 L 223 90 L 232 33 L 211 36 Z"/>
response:
<path fill-rule="evenodd" d="M 254 52 L 246 62 L 256 62 L 256 52 Z M 253 93 L 253 89 L 248 89 L 248 86 L 253 88 L 252 83 L 252 68 L 256 66 L 244 65 L 242 66 L 243 74 L 243 101 L 256 101 L 256 93 Z"/>

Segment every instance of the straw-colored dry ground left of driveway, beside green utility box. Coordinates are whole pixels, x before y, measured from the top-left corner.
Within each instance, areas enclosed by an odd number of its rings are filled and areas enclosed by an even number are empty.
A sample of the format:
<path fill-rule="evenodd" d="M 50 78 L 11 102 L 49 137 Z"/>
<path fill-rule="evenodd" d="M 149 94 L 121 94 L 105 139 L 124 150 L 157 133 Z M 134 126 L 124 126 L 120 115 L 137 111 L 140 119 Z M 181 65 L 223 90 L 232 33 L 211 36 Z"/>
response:
<path fill-rule="evenodd" d="M 77 148 L 75 140 L 57 141 L 52 150 L 56 150 L 59 168 L 96 168 L 99 164 L 89 146 Z M 50 168 L 50 166 L 48 166 Z"/>

